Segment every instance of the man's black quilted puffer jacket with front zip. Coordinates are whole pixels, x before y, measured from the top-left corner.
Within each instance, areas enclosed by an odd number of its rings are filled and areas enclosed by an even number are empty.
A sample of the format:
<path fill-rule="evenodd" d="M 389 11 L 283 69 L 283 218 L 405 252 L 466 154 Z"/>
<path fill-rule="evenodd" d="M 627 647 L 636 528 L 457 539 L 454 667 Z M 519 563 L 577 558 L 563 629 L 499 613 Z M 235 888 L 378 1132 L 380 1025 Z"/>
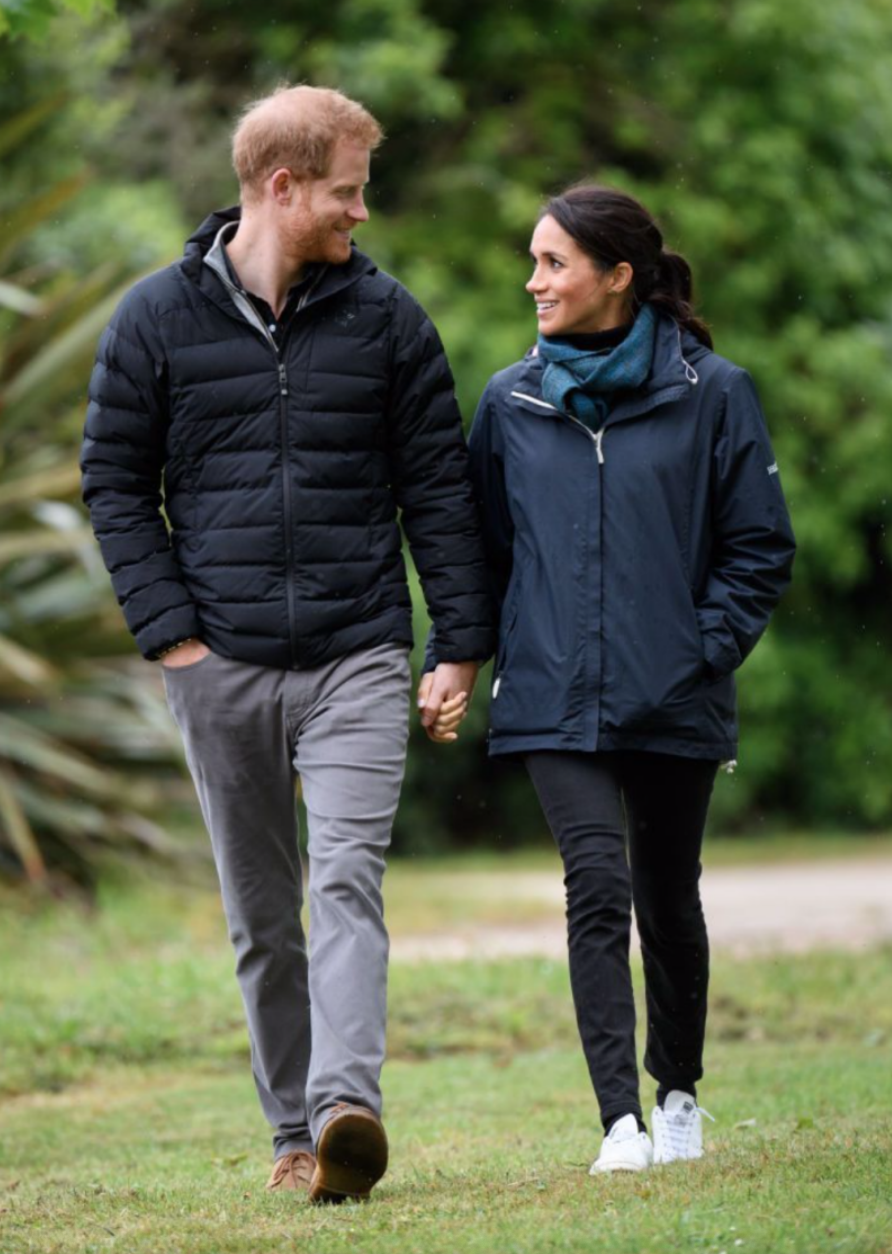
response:
<path fill-rule="evenodd" d="M 320 267 L 279 352 L 206 263 L 237 219 L 213 214 L 137 283 L 90 380 L 84 500 L 139 648 L 198 636 L 289 668 L 410 645 L 401 513 L 440 660 L 486 657 L 479 520 L 437 331 L 354 251 Z"/>

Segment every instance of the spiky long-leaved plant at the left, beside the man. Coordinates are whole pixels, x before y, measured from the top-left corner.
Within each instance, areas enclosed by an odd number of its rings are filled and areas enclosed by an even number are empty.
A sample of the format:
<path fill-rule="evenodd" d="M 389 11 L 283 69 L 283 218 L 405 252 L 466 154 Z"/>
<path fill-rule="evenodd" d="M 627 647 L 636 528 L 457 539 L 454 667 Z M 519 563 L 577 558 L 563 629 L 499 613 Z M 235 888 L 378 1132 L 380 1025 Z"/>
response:
<path fill-rule="evenodd" d="M 43 192 L 30 229 L 79 186 Z M 179 754 L 161 693 L 114 661 L 127 640 L 78 503 L 85 379 L 133 280 L 50 280 L 0 276 L 0 868 L 31 880 L 109 845 L 172 853 L 147 815 Z"/>

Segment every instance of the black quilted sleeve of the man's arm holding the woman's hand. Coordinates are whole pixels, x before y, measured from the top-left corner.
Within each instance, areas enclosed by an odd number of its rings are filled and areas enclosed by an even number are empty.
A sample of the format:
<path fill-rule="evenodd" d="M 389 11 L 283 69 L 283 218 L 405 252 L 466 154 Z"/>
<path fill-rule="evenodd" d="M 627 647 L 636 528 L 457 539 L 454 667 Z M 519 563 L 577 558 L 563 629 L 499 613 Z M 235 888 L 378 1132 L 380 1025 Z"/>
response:
<path fill-rule="evenodd" d="M 434 626 L 435 661 L 486 661 L 493 611 L 452 372 L 433 324 L 401 290 L 393 335 L 393 489 Z"/>

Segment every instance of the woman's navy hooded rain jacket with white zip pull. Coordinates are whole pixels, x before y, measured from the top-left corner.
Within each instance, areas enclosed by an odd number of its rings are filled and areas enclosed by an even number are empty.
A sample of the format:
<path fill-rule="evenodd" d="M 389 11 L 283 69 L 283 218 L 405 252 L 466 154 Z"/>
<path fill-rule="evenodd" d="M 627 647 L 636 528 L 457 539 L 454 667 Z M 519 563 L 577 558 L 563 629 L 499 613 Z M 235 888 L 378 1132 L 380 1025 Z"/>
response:
<path fill-rule="evenodd" d="M 734 757 L 733 672 L 794 553 L 749 375 L 661 317 L 650 379 L 600 431 L 544 401 L 528 355 L 469 445 L 501 603 L 491 752 Z"/>

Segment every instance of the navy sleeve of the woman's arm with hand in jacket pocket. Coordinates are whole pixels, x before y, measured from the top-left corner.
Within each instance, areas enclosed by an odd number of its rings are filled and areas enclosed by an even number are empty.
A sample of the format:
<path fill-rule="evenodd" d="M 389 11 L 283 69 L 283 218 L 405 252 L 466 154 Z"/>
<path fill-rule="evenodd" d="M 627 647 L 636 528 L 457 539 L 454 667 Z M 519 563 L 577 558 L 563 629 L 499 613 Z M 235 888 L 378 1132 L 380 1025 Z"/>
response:
<path fill-rule="evenodd" d="M 725 394 L 713 450 L 714 554 L 698 621 L 713 677 L 754 648 L 790 582 L 795 540 L 759 398 L 745 370 Z"/>

